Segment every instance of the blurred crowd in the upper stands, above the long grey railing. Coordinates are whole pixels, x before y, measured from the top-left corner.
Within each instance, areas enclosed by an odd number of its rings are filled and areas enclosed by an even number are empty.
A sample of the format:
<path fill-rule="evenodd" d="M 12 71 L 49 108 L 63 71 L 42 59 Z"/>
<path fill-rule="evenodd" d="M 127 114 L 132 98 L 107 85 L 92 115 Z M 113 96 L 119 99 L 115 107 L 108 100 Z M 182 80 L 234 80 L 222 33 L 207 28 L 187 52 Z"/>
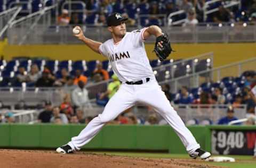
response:
<path fill-rule="evenodd" d="M 185 13 L 175 15 L 171 19 L 177 21 L 186 19 L 183 25 L 195 25 L 200 22 L 254 22 L 256 21 L 256 1 L 242 0 L 241 5 L 225 8 L 231 0 L 221 0 L 207 5 L 207 0 L 83 0 L 86 13 L 63 9 L 58 17 L 61 26 L 68 24 L 93 24 L 103 26 L 110 13 L 118 12 L 129 18 L 127 26 L 140 24 L 164 26 L 170 13 L 184 10 Z M 218 9 L 204 18 L 204 10 Z M 144 16 L 139 16 L 144 15 Z M 146 16 L 148 15 L 148 16 Z"/>

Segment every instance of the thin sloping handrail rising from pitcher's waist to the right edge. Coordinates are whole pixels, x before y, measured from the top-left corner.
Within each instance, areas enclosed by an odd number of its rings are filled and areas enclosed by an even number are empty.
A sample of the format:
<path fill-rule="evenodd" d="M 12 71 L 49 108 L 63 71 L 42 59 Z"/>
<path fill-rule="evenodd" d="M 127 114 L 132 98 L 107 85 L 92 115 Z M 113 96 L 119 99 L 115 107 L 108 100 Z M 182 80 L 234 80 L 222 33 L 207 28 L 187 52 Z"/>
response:
<path fill-rule="evenodd" d="M 207 72 L 218 71 L 218 70 L 221 70 L 221 69 L 229 68 L 231 66 L 235 66 L 235 65 L 239 65 L 239 64 L 244 64 L 244 63 L 251 62 L 251 61 L 256 61 L 256 58 L 250 58 L 249 60 L 234 62 L 234 63 L 230 63 L 228 65 L 219 66 L 217 68 L 213 68 L 213 69 L 210 69 L 210 70 L 204 70 L 204 71 L 201 71 L 201 72 L 196 72 L 194 74 L 189 74 L 189 75 L 178 77 L 178 78 L 175 78 L 175 79 L 165 80 L 165 81 L 159 82 L 159 84 L 167 83 L 167 82 L 173 82 L 173 81 L 177 81 L 177 80 L 180 80 L 180 79 L 186 79 L 186 78 L 189 78 L 189 77 L 194 77 L 195 75 L 200 75 L 200 74 L 207 73 Z"/>

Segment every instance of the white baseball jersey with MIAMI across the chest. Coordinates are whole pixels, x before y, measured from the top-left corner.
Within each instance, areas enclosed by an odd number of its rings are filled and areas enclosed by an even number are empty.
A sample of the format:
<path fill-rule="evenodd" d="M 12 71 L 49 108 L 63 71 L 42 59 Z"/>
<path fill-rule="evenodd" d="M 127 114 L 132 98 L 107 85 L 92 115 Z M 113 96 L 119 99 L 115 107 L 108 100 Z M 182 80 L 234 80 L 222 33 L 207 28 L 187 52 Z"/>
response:
<path fill-rule="evenodd" d="M 146 29 L 126 32 L 118 43 L 109 39 L 99 47 L 100 53 L 108 57 L 113 71 L 122 82 L 155 78 L 143 43 Z"/>

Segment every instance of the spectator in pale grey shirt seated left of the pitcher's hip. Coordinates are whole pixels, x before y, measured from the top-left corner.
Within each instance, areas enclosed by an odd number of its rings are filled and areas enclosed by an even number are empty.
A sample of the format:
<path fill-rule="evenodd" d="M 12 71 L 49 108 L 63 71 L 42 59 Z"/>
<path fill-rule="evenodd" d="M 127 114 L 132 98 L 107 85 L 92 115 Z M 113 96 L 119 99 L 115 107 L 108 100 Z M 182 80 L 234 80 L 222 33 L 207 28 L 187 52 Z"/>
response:
<path fill-rule="evenodd" d="M 76 107 L 91 106 L 88 91 L 82 80 L 78 81 L 77 88 L 72 92 L 72 101 Z"/>

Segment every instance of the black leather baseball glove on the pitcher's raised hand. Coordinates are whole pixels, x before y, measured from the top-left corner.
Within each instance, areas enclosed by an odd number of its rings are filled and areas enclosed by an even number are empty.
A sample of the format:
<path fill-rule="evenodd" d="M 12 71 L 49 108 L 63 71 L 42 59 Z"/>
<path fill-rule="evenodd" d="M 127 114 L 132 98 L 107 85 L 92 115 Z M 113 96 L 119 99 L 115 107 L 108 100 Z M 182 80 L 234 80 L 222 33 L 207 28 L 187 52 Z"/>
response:
<path fill-rule="evenodd" d="M 158 43 L 161 41 L 163 41 L 163 47 L 158 45 Z M 156 53 L 156 56 L 159 58 L 160 61 L 164 61 L 173 52 L 170 39 L 166 33 L 163 33 L 163 35 L 156 38 L 155 48 L 153 52 Z"/>

